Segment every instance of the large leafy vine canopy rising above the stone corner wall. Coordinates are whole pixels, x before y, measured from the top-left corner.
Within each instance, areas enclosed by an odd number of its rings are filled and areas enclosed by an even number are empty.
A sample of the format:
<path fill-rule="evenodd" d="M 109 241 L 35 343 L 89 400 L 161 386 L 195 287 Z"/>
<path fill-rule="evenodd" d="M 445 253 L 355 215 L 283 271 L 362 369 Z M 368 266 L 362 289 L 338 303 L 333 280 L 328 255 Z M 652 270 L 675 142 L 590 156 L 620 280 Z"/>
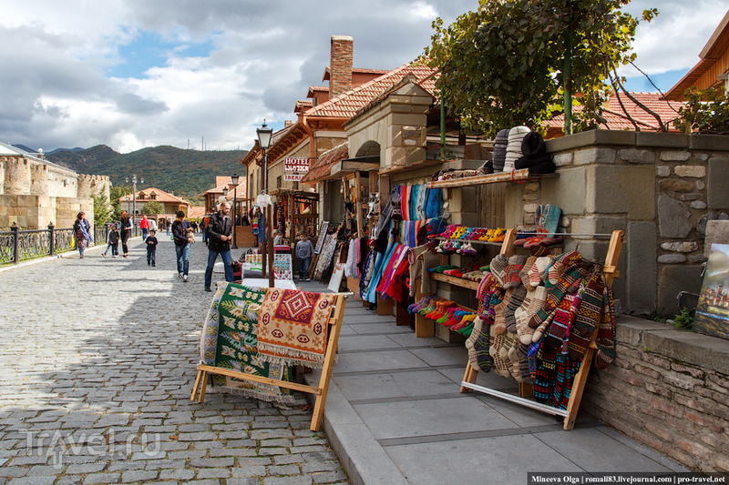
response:
<path fill-rule="evenodd" d="M 638 20 L 618 9 L 630 0 L 479 0 L 436 33 L 422 58 L 440 70 L 442 101 L 467 129 L 495 136 L 515 125 L 540 126 L 560 112 L 567 35 L 573 45 L 571 92 L 582 106 L 576 129 L 603 121 L 601 105 L 617 66 L 631 62 Z M 650 21 L 658 12 L 643 12 Z M 618 79 L 620 81 L 620 79 Z M 612 86 L 617 87 L 617 86 Z"/>

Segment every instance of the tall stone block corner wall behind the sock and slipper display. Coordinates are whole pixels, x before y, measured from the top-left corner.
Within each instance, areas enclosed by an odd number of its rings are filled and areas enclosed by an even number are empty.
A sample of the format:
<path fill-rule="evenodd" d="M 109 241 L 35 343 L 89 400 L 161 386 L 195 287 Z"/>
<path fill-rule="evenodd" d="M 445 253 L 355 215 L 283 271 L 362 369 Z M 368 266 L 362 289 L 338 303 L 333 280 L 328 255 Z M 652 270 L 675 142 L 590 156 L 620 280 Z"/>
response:
<path fill-rule="evenodd" d="M 625 231 L 614 288 L 633 314 L 675 313 L 680 291 L 699 292 L 706 221 L 729 213 L 729 137 L 598 130 L 547 147 L 559 177 L 509 185 L 508 227 L 534 227 L 538 205 L 555 205 L 566 249 L 589 258 L 609 242 L 590 235 Z"/>

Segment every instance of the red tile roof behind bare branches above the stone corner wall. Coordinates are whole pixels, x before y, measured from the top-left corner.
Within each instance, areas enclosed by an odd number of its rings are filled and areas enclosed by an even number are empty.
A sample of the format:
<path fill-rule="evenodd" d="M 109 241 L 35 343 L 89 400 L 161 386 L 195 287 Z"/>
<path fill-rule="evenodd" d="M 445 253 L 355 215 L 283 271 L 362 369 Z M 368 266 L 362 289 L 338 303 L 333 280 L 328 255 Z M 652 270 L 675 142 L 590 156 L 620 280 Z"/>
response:
<path fill-rule="evenodd" d="M 640 103 L 650 108 L 658 116 L 661 116 L 663 124 L 668 124 L 669 130 L 674 131 L 673 120 L 679 117 L 677 111 L 681 106 L 683 106 L 683 103 L 678 101 L 666 101 L 662 99 L 662 96 L 658 93 L 631 93 L 631 96 L 635 97 L 635 99 L 637 99 Z M 642 131 L 659 131 L 658 121 L 656 121 L 655 117 L 633 103 L 628 96 L 621 93 L 620 99 L 622 100 L 623 105 L 625 105 L 625 109 L 628 114 L 636 120 Z M 631 121 L 623 113 L 618 101 L 618 96 L 614 93 L 611 94 L 608 103 L 604 107 L 605 111 L 603 116 L 608 121 L 607 129 L 635 129 L 635 126 L 632 125 Z M 578 109 L 580 109 L 580 106 L 578 106 Z M 561 128 L 564 126 L 564 114 L 553 117 L 546 123 L 546 126 L 552 129 Z M 604 125 L 601 127 L 605 128 Z"/>

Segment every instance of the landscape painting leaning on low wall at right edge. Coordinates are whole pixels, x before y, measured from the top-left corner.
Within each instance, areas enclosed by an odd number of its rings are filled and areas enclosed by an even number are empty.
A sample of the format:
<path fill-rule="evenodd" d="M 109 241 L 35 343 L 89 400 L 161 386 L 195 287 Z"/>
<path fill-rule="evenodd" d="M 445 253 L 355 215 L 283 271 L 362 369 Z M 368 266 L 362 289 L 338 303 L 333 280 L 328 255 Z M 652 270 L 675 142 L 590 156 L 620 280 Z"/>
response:
<path fill-rule="evenodd" d="M 693 330 L 729 338 L 729 244 L 712 244 Z"/>

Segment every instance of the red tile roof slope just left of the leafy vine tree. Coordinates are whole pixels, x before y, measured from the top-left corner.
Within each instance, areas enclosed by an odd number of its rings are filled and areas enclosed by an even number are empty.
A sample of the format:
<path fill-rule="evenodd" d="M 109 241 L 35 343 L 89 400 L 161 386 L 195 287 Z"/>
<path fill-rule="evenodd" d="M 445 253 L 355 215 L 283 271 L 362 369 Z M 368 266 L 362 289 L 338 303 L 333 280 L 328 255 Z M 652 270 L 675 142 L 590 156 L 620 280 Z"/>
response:
<path fill-rule="evenodd" d="M 321 105 L 313 106 L 304 115 L 349 119 L 356 115 L 359 108 L 370 103 L 376 96 L 410 73 L 416 76 L 420 86 L 435 96 L 436 78 L 434 74 L 436 71 L 427 66 L 414 66 L 413 63 L 408 63 L 392 71 L 387 71 L 384 76 L 379 76 L 362 86 L 346 91 Z"/>

